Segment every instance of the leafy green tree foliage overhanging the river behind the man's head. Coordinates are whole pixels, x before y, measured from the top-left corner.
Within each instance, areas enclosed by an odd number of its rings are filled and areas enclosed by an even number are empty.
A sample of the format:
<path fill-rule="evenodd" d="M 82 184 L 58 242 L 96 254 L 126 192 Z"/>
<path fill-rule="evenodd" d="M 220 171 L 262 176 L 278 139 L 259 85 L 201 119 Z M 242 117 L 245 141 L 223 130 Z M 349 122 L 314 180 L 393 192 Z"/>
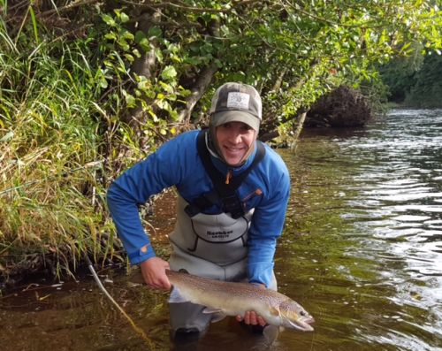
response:
<path fill-rule="evenodd" d="M 301 106 L 343 82 L 354 88 L 370 81 L 377 86 L 377 66 L 407 54 L 410 42 L 422 42 L 424 50 L 440 47 L 440 11 L 427 1 L 152 3 L 150 11 L 156 8 L 161 19 L 146 34 L 140 28 L 121 29 L 140 13 L 124 6 L 126 22 L 118 19 L 123 10 L 103 17 L 110 28 L 118 28 L 111 38 L 119 42 L 118 33 L 132 31 L 138 50 L 155 51 L 159 64 L 142 82 L 147 90 L 123 94 L 128 107 L 141 105 L 152 118 L 150 125 L 143 120 L 147 129 L 181 122 L 177 118 L 186 88 L 210 64 L 217 65 L 217 74 L 207 95 L 226 80 L 248 82 L 263 93 L 268 124 L 291 128 Z M 130 50 L 132 44 L 124 44 L 118 50 Z M 205 96 L 196 106 L 195 119 L 207 111 L 209 101 Z"/>

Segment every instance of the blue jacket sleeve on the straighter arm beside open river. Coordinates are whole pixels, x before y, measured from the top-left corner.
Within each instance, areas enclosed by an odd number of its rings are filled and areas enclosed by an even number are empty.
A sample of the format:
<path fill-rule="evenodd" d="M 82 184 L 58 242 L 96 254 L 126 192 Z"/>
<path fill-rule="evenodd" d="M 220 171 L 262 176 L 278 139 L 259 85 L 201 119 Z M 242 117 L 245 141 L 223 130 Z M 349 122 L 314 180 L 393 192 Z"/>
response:
<path fill-rule="evenodd" d="M 269 194 L 256 207 L 248 233 L 248 280 L 269 287 L 273 276 L 273 257 L 277 239 L 281 235 L 290 195 L 290 177 L 286 165 L 280 161 L 278 176 L 275 168 L 269 181 Z"/>

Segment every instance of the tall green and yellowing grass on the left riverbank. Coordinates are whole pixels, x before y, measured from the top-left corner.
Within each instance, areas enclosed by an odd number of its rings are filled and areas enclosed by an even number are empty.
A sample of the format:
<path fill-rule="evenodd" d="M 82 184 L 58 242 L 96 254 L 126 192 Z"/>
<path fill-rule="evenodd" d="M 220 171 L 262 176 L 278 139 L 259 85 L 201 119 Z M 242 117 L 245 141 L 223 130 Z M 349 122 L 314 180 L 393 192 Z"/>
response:
<path fill-rule="evenodd" d="M 44 267 L 72 274 L 85 252 L 124 260 L 105 210 L 104 158 L 118 126 L 101 106 L 99 66 L 85 40 L 38 35 L 34 21 L 16 38 L 0 24 L 3 279 Z"/>

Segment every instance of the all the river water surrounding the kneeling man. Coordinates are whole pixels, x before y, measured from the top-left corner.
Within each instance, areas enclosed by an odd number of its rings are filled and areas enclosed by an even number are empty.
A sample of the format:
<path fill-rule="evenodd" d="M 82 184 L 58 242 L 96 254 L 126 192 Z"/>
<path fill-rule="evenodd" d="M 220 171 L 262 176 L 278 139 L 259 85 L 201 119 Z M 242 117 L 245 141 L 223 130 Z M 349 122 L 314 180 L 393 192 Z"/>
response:
<path fill-rule="evenodd" d="M 442 350 L 442 111 L 394 110 L 360 130 L 306 130 L 295 152 L 280 153 L 293 188 L 275 260 L 279 291 L 316 323 L 315 332 L 282 332 L 270 349 Z M 172 208 L 166 202 L 154 225 L 170 228 Z M 229 318 L 197 344 L 173 347 L 167 294 L 133 283 L 138 271 L 99 274 L 158 349 L 263 348 Z M 5 295 L 0 345 L 148 349 L 91 279 L 38 281 Z"/>

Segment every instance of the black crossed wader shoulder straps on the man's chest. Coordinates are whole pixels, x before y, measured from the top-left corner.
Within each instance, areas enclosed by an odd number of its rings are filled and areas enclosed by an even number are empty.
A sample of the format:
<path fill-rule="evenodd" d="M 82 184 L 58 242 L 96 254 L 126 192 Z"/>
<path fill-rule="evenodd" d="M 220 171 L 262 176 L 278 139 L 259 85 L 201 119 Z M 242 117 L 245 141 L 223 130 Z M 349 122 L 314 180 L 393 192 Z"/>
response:
<path fill-rule="evenodd" d="M 230 213 L 233 218 L 238 218 L 244 215 L 244 209 L 240 202 L 236 190 L 240 187 L 242 181 L 246 179 L 248 174 L 255 168 L 256 164 L 261 162 L 265 156 L 265 149 L 261 141 L 256 142 L 255 158 L 248 167 L 248 169 L 239 175 L 230 179 L 229 184 L 225 184 L 225 176 L 218 172 L 215 165 L 210 159 L 210 151 L 206 146 L 207 129 L 202 130 L 197 137 L 198 154 L 202 159 L 204 169 L 208 172 L 214 188 L 206 194 L 198 197 L 194 202 L 186 207 L 186 212 L 190 217 L 207 210 L 213 205 L 220 205 L 225 213 Z"/>

